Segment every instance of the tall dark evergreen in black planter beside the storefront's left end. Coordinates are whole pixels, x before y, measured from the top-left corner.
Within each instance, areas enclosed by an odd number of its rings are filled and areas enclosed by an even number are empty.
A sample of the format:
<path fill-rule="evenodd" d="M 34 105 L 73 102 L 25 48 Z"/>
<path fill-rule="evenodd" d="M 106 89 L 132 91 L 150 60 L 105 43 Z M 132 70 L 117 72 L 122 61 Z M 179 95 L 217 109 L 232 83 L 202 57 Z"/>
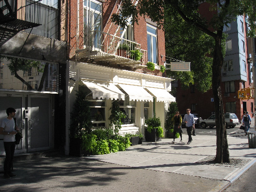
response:
<path fill-rule="evenodd" d="M 70 118 L 69 155 L 81 157 L 85 153 L 81 149 L 82 135 L 91 132 L 92 122 L 89 102 L 85 99 L 86 94 L 80 90 L 76 96 Z"/>

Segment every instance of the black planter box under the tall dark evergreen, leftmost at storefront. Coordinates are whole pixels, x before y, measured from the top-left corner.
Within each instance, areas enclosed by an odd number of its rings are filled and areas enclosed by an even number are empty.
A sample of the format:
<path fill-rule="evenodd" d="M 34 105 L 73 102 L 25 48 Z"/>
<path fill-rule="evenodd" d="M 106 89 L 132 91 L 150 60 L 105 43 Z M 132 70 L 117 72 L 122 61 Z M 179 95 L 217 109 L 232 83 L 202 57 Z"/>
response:
<path fill-rule="evenodd" d="M 75 157 L 82 157 L 89 154 L 88 151 L 82 150 L 81 140 L 79 138 L 70 138 L 69 155 Z"/>

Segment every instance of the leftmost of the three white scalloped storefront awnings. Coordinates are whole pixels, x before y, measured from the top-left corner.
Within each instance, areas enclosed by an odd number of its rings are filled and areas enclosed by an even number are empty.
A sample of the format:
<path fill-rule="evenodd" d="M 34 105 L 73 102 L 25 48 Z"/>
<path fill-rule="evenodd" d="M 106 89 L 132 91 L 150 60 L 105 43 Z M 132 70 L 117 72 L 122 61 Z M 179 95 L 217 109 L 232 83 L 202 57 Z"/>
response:
<path fill-rule="evenodd" d="M 125 99 L 125 94 L 122 93 L 113 83 L 99 84 L 88 81 L 83 83 L 93 92 L 93 98 L 98 99 Z"/>

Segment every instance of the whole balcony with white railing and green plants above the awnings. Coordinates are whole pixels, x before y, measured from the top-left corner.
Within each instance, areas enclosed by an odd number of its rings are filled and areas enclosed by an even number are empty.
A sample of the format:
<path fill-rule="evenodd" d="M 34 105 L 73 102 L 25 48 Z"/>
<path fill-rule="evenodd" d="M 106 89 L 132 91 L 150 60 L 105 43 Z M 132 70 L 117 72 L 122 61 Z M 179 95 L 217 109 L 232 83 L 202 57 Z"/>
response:
<path fill-rule="evenodd" d="M 140 44 L 106 32 L 87 34 L 83 38 L 83 48 L 76 50 L 77 61 L 92 60 L 96 64 L 133 69 L 146 67 L 147 51 L 141 49 Z"/>

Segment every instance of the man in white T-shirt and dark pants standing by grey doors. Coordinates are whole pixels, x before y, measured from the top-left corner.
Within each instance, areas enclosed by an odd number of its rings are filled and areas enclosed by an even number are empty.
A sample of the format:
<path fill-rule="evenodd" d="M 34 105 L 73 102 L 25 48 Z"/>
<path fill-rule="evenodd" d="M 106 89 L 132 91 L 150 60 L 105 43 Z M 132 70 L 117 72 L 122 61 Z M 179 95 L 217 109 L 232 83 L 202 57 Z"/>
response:
<path fill-rule="evenodd" d="M 15 112 L 16 110 L 14 108 L 8 108 L 6 110 L 8 117 L 3 119 L 0 125 L 0 134 L 3 135 L 3 145 L 6 155 L 3 166 L 3 176 L 6 179 L 16 176 L 11 172 L 15 151 L 15 135 L 19 131 L 13 118 L 16 115 Z"/>

